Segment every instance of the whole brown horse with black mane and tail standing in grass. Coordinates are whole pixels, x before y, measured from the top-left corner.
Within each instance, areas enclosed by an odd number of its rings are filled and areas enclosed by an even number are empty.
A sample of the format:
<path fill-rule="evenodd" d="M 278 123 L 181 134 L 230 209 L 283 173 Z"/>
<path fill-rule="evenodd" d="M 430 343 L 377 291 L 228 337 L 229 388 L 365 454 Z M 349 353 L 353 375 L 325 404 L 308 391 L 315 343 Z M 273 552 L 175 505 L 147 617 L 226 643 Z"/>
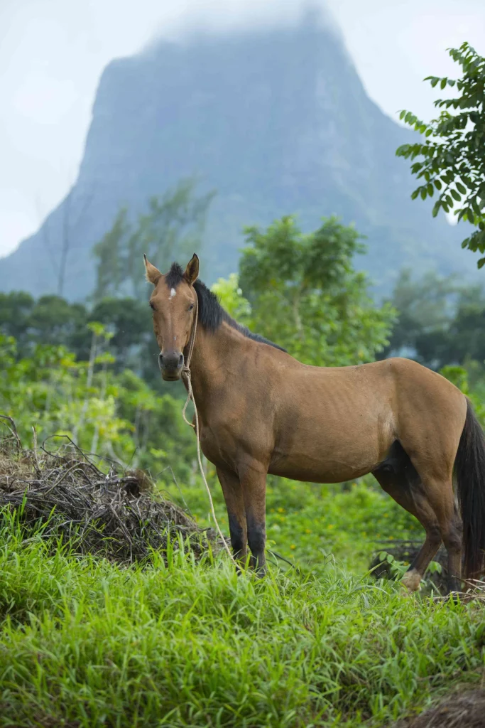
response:
<path fill-rule="evenodd" d="M 485 440 L 457 387 L 401 358 L 331 368 L 302 364 L 223 310 L 197 280 L 196 255 L 185 272 L 173 264 L 162 275 L 146 259 L 145 268 L 155 287 L 150 306 L 166 381 L 183 376 L 193 340 L 200 444 L 223 488 L 235 555 L 245 558 L 249 544 L 252 566 L 264 572 L 268 472 L 313 483 L 372 472 L 426 531 L 404 575 L 406 587 L 419 587 L 441 542 L 449 590 L 460 586 L 462 549 L 465 577 L 481 574 Z"/>

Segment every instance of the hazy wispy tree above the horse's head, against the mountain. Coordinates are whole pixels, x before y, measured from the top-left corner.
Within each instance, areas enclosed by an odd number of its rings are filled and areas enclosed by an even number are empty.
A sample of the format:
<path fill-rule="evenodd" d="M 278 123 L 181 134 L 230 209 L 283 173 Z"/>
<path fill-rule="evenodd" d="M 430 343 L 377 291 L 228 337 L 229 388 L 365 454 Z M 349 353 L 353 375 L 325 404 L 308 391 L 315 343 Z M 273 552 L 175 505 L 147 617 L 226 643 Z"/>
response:
<path fill-rule="evenodd" d="M 146 290 L 143 254 L 166 270 L 174 256 L 188 256 L 201 245 L 207 210 L 213 192 L 195 196 L 193 179 L 148 200 L 148 211 L 136 225 L 126 207 L 116 215 L 113 227 L 93 248 L 97 282 L 93 298 L 131 295 L 141 298 Z"/>

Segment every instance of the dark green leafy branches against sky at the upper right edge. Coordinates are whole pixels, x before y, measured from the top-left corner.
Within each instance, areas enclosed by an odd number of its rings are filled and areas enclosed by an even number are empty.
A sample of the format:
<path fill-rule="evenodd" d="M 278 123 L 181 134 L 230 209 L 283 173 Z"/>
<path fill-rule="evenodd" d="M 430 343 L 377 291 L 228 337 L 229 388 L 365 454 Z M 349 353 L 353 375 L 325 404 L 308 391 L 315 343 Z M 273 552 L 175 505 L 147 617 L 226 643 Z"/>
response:
<path fill-rule="evenodd" d="M 436 100 L 441 112 L 429 124 L 411 111 L 401 111 L 401 119 L 424 135 L 425 141 L 404 144 L 396 154 L 405 159 L 421 158 L 411 167 L 422 180 L 412 199 L 433 197 L 436 191 L 433 215 L 439 210 L 454 210 L 459 221 L 468 221 L 476 228 L 463 240 L 462 248 L 485 253 L 485 58 L 468 43 L 449 49 L 449 55 L 462 67 L 462 78 L 428 76 L 425 81 L 432 87 L 440 84 L 441 89 L 456 85 L 460 95 Z M 485 257 L 480 258 L 478 268 L 484 264 Z"/>

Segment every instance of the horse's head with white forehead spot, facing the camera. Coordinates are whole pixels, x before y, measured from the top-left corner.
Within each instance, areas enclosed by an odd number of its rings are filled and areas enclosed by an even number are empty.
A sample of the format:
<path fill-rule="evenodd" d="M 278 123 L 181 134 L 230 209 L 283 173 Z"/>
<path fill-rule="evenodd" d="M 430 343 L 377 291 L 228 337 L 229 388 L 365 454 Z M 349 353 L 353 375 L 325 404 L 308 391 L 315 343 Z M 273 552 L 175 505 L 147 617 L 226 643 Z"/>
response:
<path fill-rule="evenodd" d="M 153 331 L 159 344 L 159 367 L 166 381 L 180 379 L 183 350 L 187 346 L 196 312 L 197 293 L 193 288 L 199 275 L 199 258 L 194 253 L 185 272 L 178 264 L 165 275 L 145 256 L 146 279 L 155 288 L 150 296 Z"/>

